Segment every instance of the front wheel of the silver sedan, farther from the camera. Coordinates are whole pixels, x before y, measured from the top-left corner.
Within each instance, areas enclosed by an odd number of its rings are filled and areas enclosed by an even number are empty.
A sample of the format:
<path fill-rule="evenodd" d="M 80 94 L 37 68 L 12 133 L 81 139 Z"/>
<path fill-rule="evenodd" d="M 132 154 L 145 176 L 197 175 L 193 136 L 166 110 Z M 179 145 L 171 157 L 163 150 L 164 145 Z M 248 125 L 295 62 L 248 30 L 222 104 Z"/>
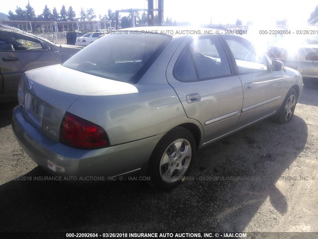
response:
<path fill-rule="evenodd" d="M 294 116 L 298 95 L 295 89 L 290 89 L 287 93 L 283 104 L 277 110 L 276 115 L 273 117 L 277 123 L 288 123 Z"/>

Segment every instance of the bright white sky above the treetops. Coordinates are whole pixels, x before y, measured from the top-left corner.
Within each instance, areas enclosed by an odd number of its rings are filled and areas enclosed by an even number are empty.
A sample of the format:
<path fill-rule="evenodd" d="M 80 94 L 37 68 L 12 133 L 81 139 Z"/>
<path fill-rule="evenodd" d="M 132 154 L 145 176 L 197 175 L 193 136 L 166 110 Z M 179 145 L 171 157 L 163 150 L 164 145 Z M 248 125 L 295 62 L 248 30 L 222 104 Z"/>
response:
<path fill-rule="evenodd" d="M 3 0 L 2 0 L 3 1 Z M 25 8 L 27 0 L 9 0 L 1 4 L 0 12 L 14 12 L 16 6 Z M 155 4 L 157 0 L 154 0 Z M 72 5 L 79 17 L 80 8 L 92 7 L 97 17 L 107 13 L 108 8 L 114 10 L 126 8 L 147 8 L 146 0 L 30 0 L 35 14 L 43 12 L 45 4 L 60 12 L 63 4 L 66 9 Z M 171 17 L 177 21 L 192 21 L 198 24 L 235 24 L 239 18 L 243 24 L 252 20 L 256 24 L 274 23 L 286 18 L 289 24 L 306 23 L 310 13 L 318 5 L 318 0 L 164 0 L 164 18 Z M 123 15 L 125 13 L 122 13 Z"/>

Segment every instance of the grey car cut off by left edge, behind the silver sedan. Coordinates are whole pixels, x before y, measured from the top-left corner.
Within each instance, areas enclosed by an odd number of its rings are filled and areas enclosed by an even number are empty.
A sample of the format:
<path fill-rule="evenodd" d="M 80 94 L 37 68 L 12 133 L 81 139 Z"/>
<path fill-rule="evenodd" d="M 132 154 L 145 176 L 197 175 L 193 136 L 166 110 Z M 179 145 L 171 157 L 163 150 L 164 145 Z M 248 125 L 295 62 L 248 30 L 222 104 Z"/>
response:
<path fill-rule="evenodd" d="M 49 40 L 0 25 L 0 101 L 16 99 L 25 71 L 65 62 L 82 47 L 56 45 Z"/>

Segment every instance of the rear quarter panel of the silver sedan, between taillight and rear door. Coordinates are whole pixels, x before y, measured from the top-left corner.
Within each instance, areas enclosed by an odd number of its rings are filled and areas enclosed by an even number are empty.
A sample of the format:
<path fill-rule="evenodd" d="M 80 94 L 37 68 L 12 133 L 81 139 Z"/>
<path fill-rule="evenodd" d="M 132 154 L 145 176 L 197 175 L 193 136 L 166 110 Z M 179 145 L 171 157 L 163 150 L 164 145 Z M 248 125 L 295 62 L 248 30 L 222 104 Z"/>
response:
<path fill-rule="evenodd" d="M 168 85 L 165 71 L 183 38 L 172 39 L 139 80 L 137 93 L 105 96 L 103 92 L 80 97 L 68 112 L 102 126 L 111 145 L 147 138 L 169 131 L 186 122 L 201 124 L 186 117 L 179 98 Z"/>

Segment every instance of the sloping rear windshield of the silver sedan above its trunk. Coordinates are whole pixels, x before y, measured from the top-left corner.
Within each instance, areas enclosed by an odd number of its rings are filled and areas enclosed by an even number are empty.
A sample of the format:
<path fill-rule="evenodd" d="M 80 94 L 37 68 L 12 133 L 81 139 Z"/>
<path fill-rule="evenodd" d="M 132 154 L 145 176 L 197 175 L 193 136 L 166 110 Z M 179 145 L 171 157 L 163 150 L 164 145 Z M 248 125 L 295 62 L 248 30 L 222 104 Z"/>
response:
<path fill-rule="evenodd" d="M 67 60 L 63 66 L 90 75 L 135 84 L 171 37 L 129 31 L 123 33 L 109 34 L 98 39 Z"/>

